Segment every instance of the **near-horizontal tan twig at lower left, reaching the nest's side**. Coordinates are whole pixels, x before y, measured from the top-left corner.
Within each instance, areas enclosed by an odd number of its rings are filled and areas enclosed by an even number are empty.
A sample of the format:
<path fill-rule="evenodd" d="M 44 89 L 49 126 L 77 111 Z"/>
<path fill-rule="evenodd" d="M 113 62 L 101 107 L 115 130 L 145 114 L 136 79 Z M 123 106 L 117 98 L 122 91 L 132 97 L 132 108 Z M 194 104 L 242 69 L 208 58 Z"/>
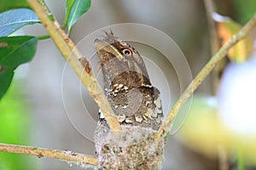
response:
<path fill-rule="evenodd" d="M 31 146 L 22 146 L 15 144 L 0 143 L 0 151 L 25 154 L 31 156 L 56 158 L 64 161 L 75 162 L 78 164 L 98 165 L 98 160 L 94 156 L 86 156 L 84 154 L 75 153 L 72 150 L 49 150 L 44 148 L 34 148 Z"/>

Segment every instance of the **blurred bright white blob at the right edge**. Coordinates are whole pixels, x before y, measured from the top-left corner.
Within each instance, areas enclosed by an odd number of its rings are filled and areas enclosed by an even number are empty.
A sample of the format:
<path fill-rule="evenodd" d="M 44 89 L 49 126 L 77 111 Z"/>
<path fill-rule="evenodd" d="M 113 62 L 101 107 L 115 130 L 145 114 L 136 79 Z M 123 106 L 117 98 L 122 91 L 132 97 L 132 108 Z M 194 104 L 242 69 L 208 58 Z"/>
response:
<path fill-rule="evenodd" d="M 256 57 L 230 63 L 218 90 L 222 121 L 235 133 L 256 134 Z"/>

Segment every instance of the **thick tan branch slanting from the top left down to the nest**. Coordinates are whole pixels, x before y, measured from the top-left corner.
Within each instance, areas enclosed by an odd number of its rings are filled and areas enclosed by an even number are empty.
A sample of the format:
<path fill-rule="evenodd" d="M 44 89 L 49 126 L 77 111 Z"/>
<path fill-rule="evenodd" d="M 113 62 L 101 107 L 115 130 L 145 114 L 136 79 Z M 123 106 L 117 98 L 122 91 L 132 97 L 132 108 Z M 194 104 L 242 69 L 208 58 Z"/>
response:
<path fill-rule="evenodd" d="M 121 130 L 119 122 L 108 103 L 108 99 L 99 82 L 96 81 L 96 77 L 91 70 L 90 62 L 79 54 L 79 50 L 75 47 L 73 41 L 67 37 L 67 34 L 61 30 L 59 23 L 54 19 L 52 14 L 49 13 L 43 0 L 27 0 L 27 3 L 29 3 L 35 13 L 38 14 L 38 17 L 45 29 L 49 32 L 57 48 L 59 48 L 62 56 L 67 60 L 67 63 L 73 68 L 73 71 L 75 71 L 81 82 L 84 83 L 84 86 L 90 92 L 90 95 L 95 99 L 97 105 L 101 108 L 109 127 L 113 131 Z M 83 60 L 83 64 L 80 60 Z"/>

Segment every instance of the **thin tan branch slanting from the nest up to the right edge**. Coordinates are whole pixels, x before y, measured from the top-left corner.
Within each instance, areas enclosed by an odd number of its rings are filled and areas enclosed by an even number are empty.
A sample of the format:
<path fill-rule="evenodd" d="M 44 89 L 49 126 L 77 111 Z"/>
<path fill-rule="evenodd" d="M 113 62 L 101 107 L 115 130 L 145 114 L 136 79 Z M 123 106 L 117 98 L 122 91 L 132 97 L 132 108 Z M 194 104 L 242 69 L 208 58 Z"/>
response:
<path fill-rule="evenodd" d="M 195 92 L 195 89 L 199 87 L 201 82 L 207 77 L 207 75 L 212 71 L 212 69 L 218 64 L 218 61 L 224 59 L 225 55 L 228 53 L 229 49 L 232 48 L 236 42 L 246 37 L 248 32 L 253 29 L 256 25 L 256 13 L 253 15 L 253 18 L 247 22 L 245 26 L 241 28 L 240 31 L 236 33 L 231 39 L 224 44 L 222 48 L 218 50 L 218 53 L 215 54 L 203 67 L 203 69 L 198 73 L 195 79 L 190 82 L 189 87 L 186 88 L 183 94 L 177 99 L 176 104 L 172 107 L 172 110 L 166 116 L 165 121 L 161 125 L 159 132 L 156 134 L 155 139 L 160 140 L 162 137 L 165 137 L 168 133 L 174 118 L 177 116 L 177 112 L 180 110 L 182 105 L 189 99 L 189 97 Z"/>

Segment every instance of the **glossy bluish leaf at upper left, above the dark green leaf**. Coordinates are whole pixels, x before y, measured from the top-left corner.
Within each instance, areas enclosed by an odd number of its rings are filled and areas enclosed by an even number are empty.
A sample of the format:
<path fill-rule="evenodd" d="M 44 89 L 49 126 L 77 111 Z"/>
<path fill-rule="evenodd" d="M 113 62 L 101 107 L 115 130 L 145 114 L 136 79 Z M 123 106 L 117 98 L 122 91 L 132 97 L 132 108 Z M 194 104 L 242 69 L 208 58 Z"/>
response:
<path fill-rule="evenodd" d="M 22 26 L 38 23 L 38 16 L 28 8 L 12 9 L 0 14 L 0 37 L 18 30 Z"/>

